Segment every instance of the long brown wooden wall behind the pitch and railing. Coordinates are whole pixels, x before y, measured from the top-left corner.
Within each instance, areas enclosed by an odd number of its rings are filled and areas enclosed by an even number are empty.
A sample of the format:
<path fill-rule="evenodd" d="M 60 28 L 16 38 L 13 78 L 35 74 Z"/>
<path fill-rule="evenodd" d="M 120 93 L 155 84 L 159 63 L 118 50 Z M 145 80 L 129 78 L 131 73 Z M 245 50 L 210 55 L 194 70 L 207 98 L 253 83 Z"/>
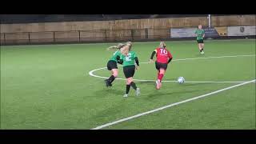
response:
<path fill-rule="evenodd" d="M 253 26 L 255 15 L 213 16 L 211 25 Z M 1 43 L 115 42 L 170 38 L 171 28 L 208 26 L 207 17 L 1 24 Z M 225 29 L 225 28 L 224 28 Z"/>

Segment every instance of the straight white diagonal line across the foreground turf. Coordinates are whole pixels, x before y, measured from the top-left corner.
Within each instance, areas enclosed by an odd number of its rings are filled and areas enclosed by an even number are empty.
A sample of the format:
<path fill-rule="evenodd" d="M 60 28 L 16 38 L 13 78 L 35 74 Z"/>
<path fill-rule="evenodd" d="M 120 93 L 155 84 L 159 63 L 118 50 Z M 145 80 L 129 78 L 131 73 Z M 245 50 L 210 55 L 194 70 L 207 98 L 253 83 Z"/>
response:
<path fill-rule="evenodd" d="M 106 123 L 106 124 L 104 124 L 102 126 L 97 126 L 97 127 L 93 128 L 91 130 L 99 130 L 99 129 L 102 129 L 102 128 L 106 127 L 106 126 L 112 126 L 112 125 L 115 125 L 115 124 L 120 123 L 120 122 L 125 122 L 125 121 L 128 121 L 128 120 L 133 119 L 133 118 L 141 117 L 142 115 L 151 114 L 151 113 L 157 112 L 159 110 L 164 110 L 166 108 L 169 108 L 169 107 L 172 107 L 172 106 L 177 106 L 177 105 L 185 103 L 185 102 L 190 102 L 190 101 L 194 101 L 194 100 L 199 99 L 199 98 L 204 98 L 204 97 L 210 96 L 212 94 L 217 94 L 217 93 L 220 93 L 220 92 L 222 92 L 224 90 L 230 90 L 230 89 L 233 89 L 234 87 L 243 86 L 243 85 L 246 85 L 246 84 L 248 84 L 250 82 L 255 82 L 255 79 L 251 80 L 251 81 L 248 81 L 248 82 L 242 82 L 242 83 L 234 85 L 234 86 L 229 86 L 229 87 L 226 87 L 226 88 L 221 89 L 221 90 L 216 90 L 216 91 L 210 92 L 208 94 L 203 94 L 203 95 L 200 95 L 200 96 L 197 96 L 197 97 L 194 97 L 194 98 L 189 98 L 189 99 L 186 99 L 186 100 L 181 101 L 181 102 L 175 102 L 175 103 L 172 103 L 170 105 L 162 106 L 162 107 L 159 107 L 157 109 L 146 111 L 146 112 L 141 113 L 141 114 L 136 114 L 136 115 L 128 117 L 128 118 L 122 118 L 122 119 L 120 119 L 118 121 L 109 122 L 109 123 Z"/>

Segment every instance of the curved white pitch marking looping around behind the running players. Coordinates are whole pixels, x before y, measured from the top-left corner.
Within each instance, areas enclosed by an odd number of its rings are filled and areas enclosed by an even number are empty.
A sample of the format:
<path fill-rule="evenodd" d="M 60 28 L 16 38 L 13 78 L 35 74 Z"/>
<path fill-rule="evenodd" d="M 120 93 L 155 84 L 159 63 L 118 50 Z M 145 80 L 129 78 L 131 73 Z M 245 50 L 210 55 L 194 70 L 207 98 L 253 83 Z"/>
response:
<path fill-rule="evenodd" d="M 230 56 L 218 56 L 218 57 L 206 57 L 206 58 L 182 58 L 182 59 L 174 59 L 173 61 L 186 61 L 186 60 L 195 60 L 195 59 L 209 59 L 209 58 L 236 58 L 236 57 L 253 57 L 255 54 L 249 54 L 249 55 L 230 55 Z M 150 62 L 141 62 L 141 63 L 150 63 Z M 122 65 L 119 65 L 122 66 Z M 90 76 L 96 77 L 96 78 L 107 78 L 95 75 L 94 72 L 97 70 L 106 69 L 106 67 L 102 67 L 99 69 L 91 70 L 89 72 Z M 126 80 L 125 78 L 116 78 L 119 80 Z M 134 79 L 134 81 L 138 82 L 154 82 L 155 80 L 146 80 L 146 79 Z M 177 82 L 177 81 L 162 81 L 162 82 Z M 218 82 L 218 81 L 206 81 L 206 82 L 200 82 L 200 81 L 187 81 L 186 83 L 242 83 L 244 81 L 226 81 L 226 82 Z"/>

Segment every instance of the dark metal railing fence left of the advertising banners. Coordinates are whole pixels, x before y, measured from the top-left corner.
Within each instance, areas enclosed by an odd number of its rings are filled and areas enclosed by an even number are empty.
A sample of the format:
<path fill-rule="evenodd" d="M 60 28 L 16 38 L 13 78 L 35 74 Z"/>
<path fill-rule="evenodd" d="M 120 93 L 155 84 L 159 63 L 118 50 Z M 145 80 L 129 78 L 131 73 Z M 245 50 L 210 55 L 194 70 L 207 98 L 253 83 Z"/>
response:
<path fill-rule="evenodd" d="M 147 41 L 165 38 L 170 38 L 170 29 L 42 31 L 1 33 L 1 45 L 62 42 Z"/>

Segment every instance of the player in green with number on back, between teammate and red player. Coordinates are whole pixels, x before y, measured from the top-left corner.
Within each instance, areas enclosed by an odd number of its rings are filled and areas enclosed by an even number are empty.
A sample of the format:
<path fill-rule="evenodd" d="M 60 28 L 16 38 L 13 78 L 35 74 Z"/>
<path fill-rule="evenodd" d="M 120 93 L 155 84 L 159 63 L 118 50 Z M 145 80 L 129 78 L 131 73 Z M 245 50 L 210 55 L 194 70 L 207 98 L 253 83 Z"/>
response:
<path fill-rule="evenodd" d="M 138 70 L 138 57 L 137 54 L 131 50 L 131 42 L 127 42 L 126 46 L 123 47 L 123 50 L 121 50 L 121 62 L 123 65 L 123 73 L 126 76 L 126 94 L 123 95 L 123 97 L 128 97 L 130 86 L 136 90 L 136 96 L 140 94 L 140 89 L 136 86 L 133 77 L 135 69 Z M 136 62 L 136 65 L 134 65 L 134 61 Z"/>

